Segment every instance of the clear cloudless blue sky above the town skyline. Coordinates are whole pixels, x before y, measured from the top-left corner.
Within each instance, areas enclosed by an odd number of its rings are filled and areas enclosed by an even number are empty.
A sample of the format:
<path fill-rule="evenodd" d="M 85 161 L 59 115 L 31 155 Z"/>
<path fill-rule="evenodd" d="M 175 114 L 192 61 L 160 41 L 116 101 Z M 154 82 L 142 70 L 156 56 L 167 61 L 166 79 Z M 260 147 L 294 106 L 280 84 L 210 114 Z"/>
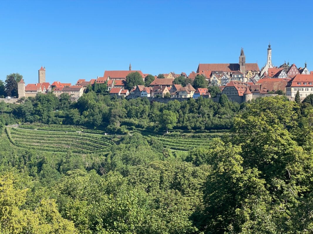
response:
<path fill-rule="evenodd" d="M 0 79 L 76 83 L 105 70 L 189 74 L 198 63 L 284 61 L 313 70 L 310 1 L 0 0 Z"/>

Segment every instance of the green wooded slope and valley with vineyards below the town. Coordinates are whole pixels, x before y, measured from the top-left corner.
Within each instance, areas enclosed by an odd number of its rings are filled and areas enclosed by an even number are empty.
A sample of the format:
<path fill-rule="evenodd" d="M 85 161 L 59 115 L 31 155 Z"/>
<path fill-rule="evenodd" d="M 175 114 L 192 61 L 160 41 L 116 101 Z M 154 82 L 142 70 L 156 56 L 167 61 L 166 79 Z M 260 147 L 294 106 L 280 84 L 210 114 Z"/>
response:
<path fill-rule="evenodd" d="M 0 103 L 0 233 L 312 233 L 312 100 Z M 12 143 L 69 125 L 83 153 Z"/>

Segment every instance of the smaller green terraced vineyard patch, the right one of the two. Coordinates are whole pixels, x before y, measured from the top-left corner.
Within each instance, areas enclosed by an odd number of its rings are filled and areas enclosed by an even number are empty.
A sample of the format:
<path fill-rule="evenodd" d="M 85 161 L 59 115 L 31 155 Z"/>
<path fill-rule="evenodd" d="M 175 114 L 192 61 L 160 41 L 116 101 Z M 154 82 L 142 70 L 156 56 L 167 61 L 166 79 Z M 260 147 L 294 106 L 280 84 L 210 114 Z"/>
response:
<path fill-rule="evenodd" d="M 208 145 L 209 138 L 191 138 L 191 137 L 168 137 L 157 136 L 156 139 L 160 140 L 164 147 L 168 147 L 174 150 L 188 151 L 201 146 Z"/>

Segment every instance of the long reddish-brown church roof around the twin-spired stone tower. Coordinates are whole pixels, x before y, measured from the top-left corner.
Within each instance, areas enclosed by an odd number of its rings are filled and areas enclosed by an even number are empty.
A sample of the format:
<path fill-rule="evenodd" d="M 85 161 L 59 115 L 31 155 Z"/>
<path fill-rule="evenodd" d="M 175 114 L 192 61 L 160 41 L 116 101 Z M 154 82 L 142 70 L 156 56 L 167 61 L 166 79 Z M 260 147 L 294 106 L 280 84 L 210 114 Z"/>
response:
<path fill-rule="evenodd" d="M 200 63 L 197 69 L 199 71 L 239 71 L 239 63 Z M 246 71 L 259 71 L 257 63 L 246 63 Z"/>

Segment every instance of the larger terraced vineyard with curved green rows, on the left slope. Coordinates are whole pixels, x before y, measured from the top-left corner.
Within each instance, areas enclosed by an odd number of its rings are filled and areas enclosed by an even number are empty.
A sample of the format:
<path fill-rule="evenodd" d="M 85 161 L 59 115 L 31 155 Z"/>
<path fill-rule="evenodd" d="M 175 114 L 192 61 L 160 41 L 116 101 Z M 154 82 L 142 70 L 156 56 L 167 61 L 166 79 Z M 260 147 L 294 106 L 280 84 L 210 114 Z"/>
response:
<path fill-rule="evenodd" d="M 103 135 L 84 134 L 75 132 L 52 132 L 32 129 L 6 129 L 10 141 L 22 148 L 42 151 L 87 154 L 92 152 L 109 151 L 114 144 Z"/>

